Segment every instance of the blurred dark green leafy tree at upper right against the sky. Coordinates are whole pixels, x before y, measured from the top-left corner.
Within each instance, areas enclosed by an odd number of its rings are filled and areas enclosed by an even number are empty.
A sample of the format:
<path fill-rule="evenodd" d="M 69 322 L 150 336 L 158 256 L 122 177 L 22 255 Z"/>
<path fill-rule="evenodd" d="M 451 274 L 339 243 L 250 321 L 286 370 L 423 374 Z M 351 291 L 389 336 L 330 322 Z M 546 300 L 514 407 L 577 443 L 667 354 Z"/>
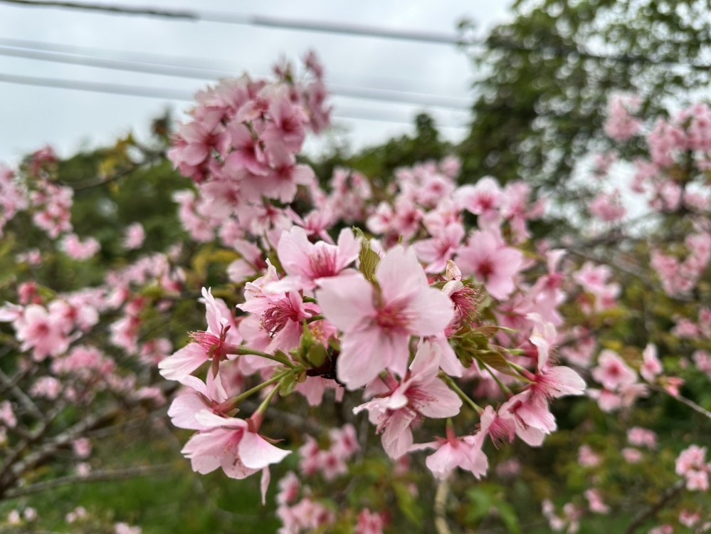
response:
<path fill-rule="evenodd" d="M 522 178 L 566 198 L 579 159 L 610 146 L 602 125 L 612 93 L 641 95 L 649 116 L 708 84 L 710 69 L 692 66 L 708 51 L 708 9 L 691 0 L 517 1 L 515 21 L 471 52 L 485 76 L 458 147 L 464 180 Z"/>

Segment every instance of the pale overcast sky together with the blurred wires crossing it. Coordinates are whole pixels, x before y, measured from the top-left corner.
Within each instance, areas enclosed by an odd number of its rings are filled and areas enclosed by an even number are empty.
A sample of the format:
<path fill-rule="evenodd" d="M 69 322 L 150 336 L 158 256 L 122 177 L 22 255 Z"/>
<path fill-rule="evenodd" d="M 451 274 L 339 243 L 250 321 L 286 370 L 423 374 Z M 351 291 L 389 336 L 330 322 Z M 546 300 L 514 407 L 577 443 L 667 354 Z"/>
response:
<path fill-rule="evenodd" d="M 511 17 L 510 2 L 483 0 L 154 6 L 203 20 L 0 2 L 0 94 L 12 103 L 0 112 L 0 160 L 16 162 L 46 144 L 68 155 L 145 132 L 167 108 L 179 118 L 206 83 L 246 71 L 268 75 L 281 56 L 310 49 L 333 91 L 337 135 L 351 147 L 413 132 L 423 110 L 459 141 L 477 73 L 454 43 L 458 22 L 468 17 L 485 36 Z"/>

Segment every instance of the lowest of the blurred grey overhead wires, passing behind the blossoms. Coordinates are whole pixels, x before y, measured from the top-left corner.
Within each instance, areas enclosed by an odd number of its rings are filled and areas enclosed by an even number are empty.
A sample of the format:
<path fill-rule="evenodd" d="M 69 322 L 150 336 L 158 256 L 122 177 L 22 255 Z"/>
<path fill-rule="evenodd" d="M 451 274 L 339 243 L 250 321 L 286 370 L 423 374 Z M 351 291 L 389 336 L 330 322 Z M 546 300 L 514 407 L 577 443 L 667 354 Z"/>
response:
<path fill-rule="evenodd" d="M 37 76 L 23 76 L 0 73 L 0 83 L 13 83 L 18 85 L 33 85 L 38 87 L 71 89 L 90 91 L 92 93 L 107 93 L 110 95 L 130 95 L 162 100 L 181 100 L 192 102 L 193 95 L 189 91 L 170 88 L 154 88 L 142 85 L 122 85 L 117 83 L 89 82 L 80 80 L 66 80 L 62 78 L 40 78 Z M 362 108 L 339 108 L 334 117 L 347 120 L 372 120 L 377 122 L 394 122 L 412 125 L 411 120 L 405 120 L 394 113 L 384 111 L 364 110 Z M 439 125 L 445 128 L 466 128 L 465 125 Z"/>

